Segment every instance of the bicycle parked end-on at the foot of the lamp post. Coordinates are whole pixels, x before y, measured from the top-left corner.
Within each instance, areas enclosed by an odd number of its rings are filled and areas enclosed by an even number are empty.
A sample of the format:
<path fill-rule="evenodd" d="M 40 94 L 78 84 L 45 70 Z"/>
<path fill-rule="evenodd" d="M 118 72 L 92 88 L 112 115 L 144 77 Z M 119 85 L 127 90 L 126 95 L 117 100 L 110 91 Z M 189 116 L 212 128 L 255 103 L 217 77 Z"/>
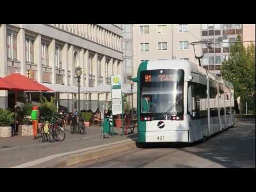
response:
<path fill-rule="evenodd" d="M 86 134 L 84 118 L 82 118 L 81 113 L 76 112 L 71 116 L 70 132 L 71 134 Z"/>

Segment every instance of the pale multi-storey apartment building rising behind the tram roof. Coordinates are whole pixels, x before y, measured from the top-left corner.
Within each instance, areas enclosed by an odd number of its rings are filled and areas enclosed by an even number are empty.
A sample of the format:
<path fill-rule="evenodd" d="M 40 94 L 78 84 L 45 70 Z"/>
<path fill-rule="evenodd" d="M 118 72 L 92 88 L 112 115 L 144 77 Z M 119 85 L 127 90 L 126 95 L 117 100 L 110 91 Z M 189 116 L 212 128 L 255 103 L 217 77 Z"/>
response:
<path fill-rule="evenodd" d="M 230 45 L 232 44 L 225 42 L 235 42 L 237 35 L 242 35 L 244 41 L 255 41 L 255 25 L 124 24 L 124 66 L 130 66 L 130 63 L 132 63 L 130 71 L 133 73 L 132 77 L 136 77 L 140 62 L 145 60 L 186 59 L 198 63 L 195 59 L 193 45 L 190 45 L 190 43 L 210 41 L 217 43 L 212 44 L 211 50 L 206 49 L 204 45 L 195 45 L 196 55 L 200 56 L 204 52 L 204 58 L 201 61 L 202 67 L 220 76 L 221 62 L 223 59 L 228 59 Z M 247 44 L 249 43 L 244 43 L 244 45 Z M 127 53 L 126 50 L 128 50 Z M 126 78 L 125 82 L 129 84 L 131 73 L 124 76 Z M 134 90 L 136 90 L 136 84 L 134 84 Z M 134 106 L 136 106 L 136 95 L 133 95 L 133 97 Z"/>

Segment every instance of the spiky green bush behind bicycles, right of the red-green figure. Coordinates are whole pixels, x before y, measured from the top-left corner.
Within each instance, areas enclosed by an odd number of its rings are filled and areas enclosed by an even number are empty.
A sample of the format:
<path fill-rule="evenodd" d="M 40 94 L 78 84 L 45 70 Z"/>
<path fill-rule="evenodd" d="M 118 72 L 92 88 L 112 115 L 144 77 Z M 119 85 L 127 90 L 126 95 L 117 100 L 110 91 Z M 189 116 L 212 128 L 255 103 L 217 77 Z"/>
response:
<path fill-rule="evenodd" d="M 45 97 L 40 99 L 39 114 L 40 116 L 52 116 L 58 112 L 58 108 L 55 105 L 55 98 L 51 97 L 51 101 L 47 101 Z"/>

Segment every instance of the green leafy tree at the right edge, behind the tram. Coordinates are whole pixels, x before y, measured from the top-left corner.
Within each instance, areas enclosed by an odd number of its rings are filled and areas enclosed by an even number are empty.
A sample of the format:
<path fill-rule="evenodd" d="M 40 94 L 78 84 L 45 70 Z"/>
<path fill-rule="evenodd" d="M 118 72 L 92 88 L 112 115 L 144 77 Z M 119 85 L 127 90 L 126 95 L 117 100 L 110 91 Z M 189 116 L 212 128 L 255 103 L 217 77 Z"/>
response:
<path fill-rule="evenodd" d="M 221 73 L 234 85 L 235 99 L 241 97 L 242 103 L 252 99 L 252 94 L 255 95 L 255 45 L 251 43 L 246 49 L 238 36 L 230 47 L 229 59 L 222 61 Z"/>

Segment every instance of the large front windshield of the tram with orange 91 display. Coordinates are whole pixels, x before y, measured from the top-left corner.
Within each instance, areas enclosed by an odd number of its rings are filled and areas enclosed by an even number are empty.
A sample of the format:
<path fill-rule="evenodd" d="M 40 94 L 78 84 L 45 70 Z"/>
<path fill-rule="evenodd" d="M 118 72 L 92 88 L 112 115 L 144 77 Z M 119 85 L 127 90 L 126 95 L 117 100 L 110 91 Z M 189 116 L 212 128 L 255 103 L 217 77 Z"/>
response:
<path fill-rule="evenodd" d="M 140 78 L 141 114 L 183 114 L 183 70 L 147 70 L 141 72 Z"/>

